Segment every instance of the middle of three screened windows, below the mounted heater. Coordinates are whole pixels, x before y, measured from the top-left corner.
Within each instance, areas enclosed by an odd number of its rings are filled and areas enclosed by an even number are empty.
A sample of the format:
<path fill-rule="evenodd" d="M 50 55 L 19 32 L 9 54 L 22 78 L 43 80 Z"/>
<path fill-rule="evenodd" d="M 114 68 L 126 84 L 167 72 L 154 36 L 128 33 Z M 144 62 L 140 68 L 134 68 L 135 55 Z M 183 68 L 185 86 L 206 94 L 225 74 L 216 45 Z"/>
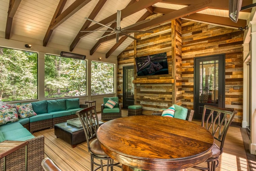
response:
<path fill-rule="evenodd" d="M 45 98 L 85 95 L 86 60 L 45 55 Z"/>

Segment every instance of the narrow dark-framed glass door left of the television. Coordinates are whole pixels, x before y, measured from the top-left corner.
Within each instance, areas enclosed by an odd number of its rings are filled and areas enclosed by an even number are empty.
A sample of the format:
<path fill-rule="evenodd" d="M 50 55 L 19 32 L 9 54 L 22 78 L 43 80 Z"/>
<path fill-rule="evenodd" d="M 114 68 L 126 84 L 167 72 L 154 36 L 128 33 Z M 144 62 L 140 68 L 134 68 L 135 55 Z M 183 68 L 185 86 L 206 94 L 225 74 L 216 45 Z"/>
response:
<path fill-rule="evenodd" d="M 125 66 L 123 68 L 123 108 L 134 105 L 134 66 Z"/>

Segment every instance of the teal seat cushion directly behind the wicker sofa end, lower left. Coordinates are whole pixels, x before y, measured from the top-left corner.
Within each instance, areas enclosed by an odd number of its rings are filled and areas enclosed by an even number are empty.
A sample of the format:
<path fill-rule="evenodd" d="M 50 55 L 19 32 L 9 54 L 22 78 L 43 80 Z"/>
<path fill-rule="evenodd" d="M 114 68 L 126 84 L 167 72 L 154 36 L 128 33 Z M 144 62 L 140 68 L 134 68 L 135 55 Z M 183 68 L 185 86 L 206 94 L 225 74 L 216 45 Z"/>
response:
<path fill-rule="evenodd" d="M 29 137 L 32 134 L 26 128 L 15 129 L 3 133 L 6 140 L 15 141 L 20 138 Z"/>

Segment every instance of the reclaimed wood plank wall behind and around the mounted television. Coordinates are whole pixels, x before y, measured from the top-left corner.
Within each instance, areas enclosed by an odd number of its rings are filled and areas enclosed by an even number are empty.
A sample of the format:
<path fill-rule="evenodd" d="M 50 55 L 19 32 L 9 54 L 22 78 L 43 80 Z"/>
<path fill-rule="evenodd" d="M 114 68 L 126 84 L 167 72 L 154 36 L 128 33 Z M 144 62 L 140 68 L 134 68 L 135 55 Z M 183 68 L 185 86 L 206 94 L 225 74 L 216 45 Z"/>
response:
<path fill-rule="evenodd" d="M 149 29 L 154 33 L 137 33 L 140 39 L 132 42 L 118 56 L 118 97 L 123 103 L 123 66 L 134 65 L 135 102 L 142 106 L 143 114 L 151 114 L 172 105 L 172 48 L 171 21 Z M 136 54 L 134 54 L 136 52 Z M 137 77 L 134 57 L 167 53 L 169 74 Z"/>

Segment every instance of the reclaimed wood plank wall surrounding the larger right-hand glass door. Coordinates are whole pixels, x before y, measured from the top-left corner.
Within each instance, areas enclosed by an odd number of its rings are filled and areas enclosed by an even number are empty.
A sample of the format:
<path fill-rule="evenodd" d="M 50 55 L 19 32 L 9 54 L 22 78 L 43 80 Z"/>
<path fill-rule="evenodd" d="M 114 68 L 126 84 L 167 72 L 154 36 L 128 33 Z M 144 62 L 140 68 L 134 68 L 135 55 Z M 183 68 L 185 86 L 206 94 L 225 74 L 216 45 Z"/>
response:
<path fill-rule="evenodd" d="M 225 107 L 236 110 L 233 121 L 242 123 L 243 36 L 237 29 L 182 20 L 182 105 L 193 108 L 194 58 L 225 54 Z"/>

